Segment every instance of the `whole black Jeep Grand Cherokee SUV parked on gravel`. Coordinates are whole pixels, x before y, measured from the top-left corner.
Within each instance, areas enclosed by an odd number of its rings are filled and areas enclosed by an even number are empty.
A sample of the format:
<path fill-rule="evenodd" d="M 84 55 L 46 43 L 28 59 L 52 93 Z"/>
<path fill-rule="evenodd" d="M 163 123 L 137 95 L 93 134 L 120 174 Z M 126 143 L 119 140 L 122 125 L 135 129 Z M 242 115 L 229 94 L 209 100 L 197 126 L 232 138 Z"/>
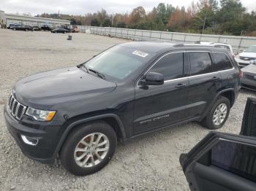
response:
<path fill-rule="evenodd" d="M 117 140 L 191 121 L 221 128 L 240 76 L 226 50 L 129 42 L 78 66 L 21 79 L 4 117 L 26 156 L 42 163 L 60 157 L 82 176 L 110 161 Z"/>

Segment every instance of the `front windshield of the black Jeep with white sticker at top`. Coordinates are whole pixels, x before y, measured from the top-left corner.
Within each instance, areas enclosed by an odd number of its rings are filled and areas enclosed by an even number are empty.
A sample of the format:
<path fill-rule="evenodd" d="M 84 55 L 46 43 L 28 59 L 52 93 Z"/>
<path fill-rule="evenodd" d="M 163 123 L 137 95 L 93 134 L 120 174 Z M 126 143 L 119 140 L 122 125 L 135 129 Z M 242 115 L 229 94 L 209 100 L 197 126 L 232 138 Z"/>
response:
<path fill-rule="evenodd" d="M 152 52 L 117 45 L 87 61 L 84 66 L 89 71 L 92 69 L 103 74 L 106 79 L 121 81 L 147 63 L 153 56 Z"/>

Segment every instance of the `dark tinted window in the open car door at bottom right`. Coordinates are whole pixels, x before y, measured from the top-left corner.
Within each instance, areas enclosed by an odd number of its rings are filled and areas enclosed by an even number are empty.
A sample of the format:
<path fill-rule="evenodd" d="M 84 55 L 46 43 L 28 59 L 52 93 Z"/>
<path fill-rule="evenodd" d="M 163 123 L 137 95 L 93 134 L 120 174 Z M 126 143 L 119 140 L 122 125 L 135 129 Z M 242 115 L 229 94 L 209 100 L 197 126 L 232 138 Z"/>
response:
<path fill-rule="evenodd" d="M 221 141 L 211 150 L 211 164 L 256 181 L 256 147 Z"/>

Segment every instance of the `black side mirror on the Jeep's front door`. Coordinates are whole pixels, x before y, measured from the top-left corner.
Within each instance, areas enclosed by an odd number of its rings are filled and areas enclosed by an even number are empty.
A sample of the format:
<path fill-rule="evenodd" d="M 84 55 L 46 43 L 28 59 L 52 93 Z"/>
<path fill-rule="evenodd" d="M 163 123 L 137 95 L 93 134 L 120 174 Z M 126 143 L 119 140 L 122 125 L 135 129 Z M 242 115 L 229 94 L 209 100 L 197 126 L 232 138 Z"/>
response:
<path fill-rule="evenodd" d="M 146 77 L 140 80 L 141 85 L 163 85 L 164 84 L 164 76 L 157 72 L 148 72 Z"/>

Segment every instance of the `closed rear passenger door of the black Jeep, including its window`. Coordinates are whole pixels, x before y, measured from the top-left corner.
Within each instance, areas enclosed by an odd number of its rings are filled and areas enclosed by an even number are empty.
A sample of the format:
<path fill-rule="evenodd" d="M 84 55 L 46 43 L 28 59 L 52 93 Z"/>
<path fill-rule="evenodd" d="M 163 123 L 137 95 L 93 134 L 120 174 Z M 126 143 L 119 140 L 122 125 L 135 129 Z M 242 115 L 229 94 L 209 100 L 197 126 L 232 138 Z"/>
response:
<path fill-rule="evenodd" d="M 189 88 L 187 118 L 201 117 L 222 86 L 219 71 L 213 70 L 211 52 L 187 52 L 189 56 Z"/>

